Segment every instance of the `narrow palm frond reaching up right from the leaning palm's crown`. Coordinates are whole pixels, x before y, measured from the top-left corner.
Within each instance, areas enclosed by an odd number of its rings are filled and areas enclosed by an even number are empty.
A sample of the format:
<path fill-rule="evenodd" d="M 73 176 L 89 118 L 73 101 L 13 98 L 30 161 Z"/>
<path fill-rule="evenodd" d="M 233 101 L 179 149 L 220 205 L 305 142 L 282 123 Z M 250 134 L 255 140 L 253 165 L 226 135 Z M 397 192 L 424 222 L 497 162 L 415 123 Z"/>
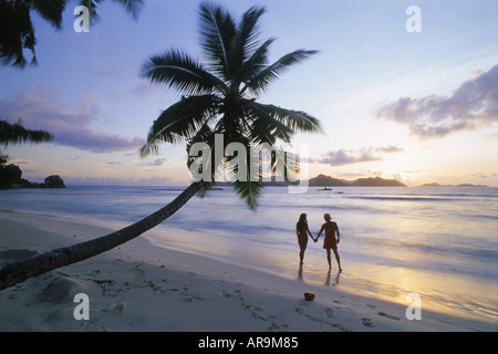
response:
<path fill-rule="evenodd" d="M 309 59 L 315 53 L 318 53 L 318 51 L 297 50 L 292 53 L 286 54 L 273 64 L 267 66 L 264 70 L 251 77 L 246 83 L 247 87 L 243 87 L 242 90 L 245 91 L 249 88 L 258 95 L 261 91 L 266 91 L 267 87 L 290 66 Z"/>

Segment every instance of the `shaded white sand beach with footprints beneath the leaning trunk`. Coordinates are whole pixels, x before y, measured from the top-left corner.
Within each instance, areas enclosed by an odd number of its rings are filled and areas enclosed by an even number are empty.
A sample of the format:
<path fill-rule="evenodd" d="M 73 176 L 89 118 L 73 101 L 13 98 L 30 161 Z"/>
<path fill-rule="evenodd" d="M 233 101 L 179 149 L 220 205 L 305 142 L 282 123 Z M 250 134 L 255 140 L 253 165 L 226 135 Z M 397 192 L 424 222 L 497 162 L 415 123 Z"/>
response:
<path fill-rule="evenodd" d="M 0 262 L 110 231 L 75 219 L 3 210 Z M 310 291 L 315 300 L 304 301 Z M 77 293 L 89 295 L 90 320 L 74 319 Z M 496 323 L 424 310 L 422 320 L 408 321 L 405 311 L 336 288 L 154 247 L 144 237 L 0 291 L 0 331 L 497 330 Z"/>

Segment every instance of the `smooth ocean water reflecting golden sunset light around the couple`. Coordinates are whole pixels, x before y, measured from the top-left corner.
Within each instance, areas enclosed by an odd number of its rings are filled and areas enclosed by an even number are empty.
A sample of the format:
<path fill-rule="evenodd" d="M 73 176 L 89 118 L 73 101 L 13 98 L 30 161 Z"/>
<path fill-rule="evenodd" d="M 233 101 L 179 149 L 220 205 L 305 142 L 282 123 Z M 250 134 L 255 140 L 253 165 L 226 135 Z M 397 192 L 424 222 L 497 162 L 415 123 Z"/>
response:
<path fill-rule="evenodd" d="M 163 207 L 183 187 L 69 186 L 0 191 L 0 209 L 126 226 Z M 343 272 L 329 271 L 323 236 L 299 267 L 295 222 L 313 236 L 329 212 L 341 232 Z M 266 187 L 257 211 L 231 187 L 194 197 L 154 232 L 157 247 L 218 258 L 323 287 L 498 323 L 498 188 L 346 187 L 289 194 Z"/>

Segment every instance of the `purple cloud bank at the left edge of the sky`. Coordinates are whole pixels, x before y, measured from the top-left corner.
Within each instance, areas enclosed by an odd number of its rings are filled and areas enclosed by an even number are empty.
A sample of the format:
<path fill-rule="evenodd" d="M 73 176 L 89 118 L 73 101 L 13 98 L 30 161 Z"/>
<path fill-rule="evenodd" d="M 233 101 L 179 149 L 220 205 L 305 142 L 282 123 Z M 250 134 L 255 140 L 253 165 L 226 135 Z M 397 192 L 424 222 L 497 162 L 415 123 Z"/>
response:
<path fill-rule="evenodd" d="M 54 144 L 76 147 L 93 153 L 111 153 L 136 149 L 145 144 L 141 137 L 123 137 L 98 132 L 92 126 L 100 116 L 96 96 L 89 96 L 79 106 L 68 110 L 53 98 L 53 93 L 39 88 L 15 97 L 0 101 L 0 118 L 17 121 L 25 127 L 45 129 L 54 135 Z"/>

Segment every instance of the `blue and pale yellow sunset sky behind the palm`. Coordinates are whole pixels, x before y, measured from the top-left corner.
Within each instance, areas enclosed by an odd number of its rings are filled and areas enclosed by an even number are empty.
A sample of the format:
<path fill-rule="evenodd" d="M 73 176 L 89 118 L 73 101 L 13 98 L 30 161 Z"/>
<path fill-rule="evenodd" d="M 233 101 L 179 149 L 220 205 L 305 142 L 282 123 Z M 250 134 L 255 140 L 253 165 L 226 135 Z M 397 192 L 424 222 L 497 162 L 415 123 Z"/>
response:
<path fill-rule="evenodd" d="M 141 77 L 153 54 L 181 49 L 200 58 L 200 1 L 145 0 L 137 20 L 113 1 L 76 33 L 74 4 L 54 30 L 32 15 L 38 65 L 0 66 L 0 119 L 52 132 L 49 144 L 2 147 L 23 177 L 70 184 L 186 185 L 184 145 L 138 148 L 162 110 L 179 96 Z M 263 6 L 261 39 L 271 61 L 295 49 L 320 53 L 259 97 L 305 111 L 324 134 L 307 144 L 310 177 L 380 176 L 408 186 L 498 187 L 498 2 L 489 0 L 217 1 L 237 18 Z M 421 32 L 405 28 L 409 6 Z"/>

